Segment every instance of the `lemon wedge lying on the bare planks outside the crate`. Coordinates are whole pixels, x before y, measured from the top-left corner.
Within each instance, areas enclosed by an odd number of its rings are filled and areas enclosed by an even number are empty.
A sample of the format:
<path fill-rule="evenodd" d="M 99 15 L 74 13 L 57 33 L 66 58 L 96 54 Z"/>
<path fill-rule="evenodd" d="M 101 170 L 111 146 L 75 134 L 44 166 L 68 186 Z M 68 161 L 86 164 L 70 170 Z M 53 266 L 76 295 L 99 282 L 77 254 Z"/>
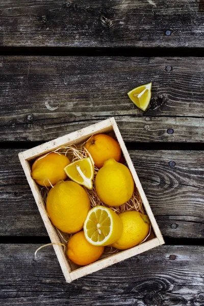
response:
<path fill-rule="evenodd" d="M 151 83 L 141 85 L 127 92 L 131 101 L 142 111 L 146 111 L 151 99 Z"/>

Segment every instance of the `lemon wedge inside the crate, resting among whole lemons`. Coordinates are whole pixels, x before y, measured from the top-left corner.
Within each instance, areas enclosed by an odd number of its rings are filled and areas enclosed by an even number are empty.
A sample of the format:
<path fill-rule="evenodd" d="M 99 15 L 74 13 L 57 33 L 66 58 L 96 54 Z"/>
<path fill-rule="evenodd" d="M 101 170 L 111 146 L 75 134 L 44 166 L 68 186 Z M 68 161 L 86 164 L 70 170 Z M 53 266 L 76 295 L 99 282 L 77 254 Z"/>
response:
<path fill-rule="evenodd" d="M 90 157 L 73 162 L 64 168 L 66 175 L 72 181 L 87 187 L 93 188 L 94 166 Z"/>

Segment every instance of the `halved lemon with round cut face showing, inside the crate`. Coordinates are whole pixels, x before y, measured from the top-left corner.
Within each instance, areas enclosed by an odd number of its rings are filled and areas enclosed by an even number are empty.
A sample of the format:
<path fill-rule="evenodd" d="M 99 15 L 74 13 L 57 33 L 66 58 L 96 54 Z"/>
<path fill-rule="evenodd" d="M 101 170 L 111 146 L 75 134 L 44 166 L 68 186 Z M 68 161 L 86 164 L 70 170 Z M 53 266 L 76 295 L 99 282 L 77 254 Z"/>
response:
<path fill-rule="evenodd" d="M 122 235 L 121 219 L 110 208 L 96 206 L 88 212 L 84 235 L 93 245 L 110 245 Z"/>

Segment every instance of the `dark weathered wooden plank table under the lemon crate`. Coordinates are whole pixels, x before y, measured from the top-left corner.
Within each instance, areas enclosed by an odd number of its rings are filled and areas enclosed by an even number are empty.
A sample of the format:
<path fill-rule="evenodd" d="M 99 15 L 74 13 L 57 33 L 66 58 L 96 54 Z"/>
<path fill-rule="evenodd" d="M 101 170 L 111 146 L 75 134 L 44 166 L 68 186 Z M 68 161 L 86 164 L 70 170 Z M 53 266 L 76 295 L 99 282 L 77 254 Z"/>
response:
<path fill-rule="evenodd" d="M 204 2 L 0 1 L 0 305 L 204 305 Z M 152 81 L 143 113 L 126 92 Z M 114 116 L 166 245 L 66 284 L 20 150 Z"/>

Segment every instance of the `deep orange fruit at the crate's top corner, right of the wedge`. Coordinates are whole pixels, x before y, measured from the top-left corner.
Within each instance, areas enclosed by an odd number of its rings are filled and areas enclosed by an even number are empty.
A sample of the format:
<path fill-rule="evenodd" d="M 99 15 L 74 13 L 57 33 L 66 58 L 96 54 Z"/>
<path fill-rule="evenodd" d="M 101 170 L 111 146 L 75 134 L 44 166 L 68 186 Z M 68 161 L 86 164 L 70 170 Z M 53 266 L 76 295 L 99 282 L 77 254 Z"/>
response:
<path fill-rule="evenodd" d="M 97 168 L 103 167 L 104 162 L 110 158 L 114 158 L 119 162 L 121 157 L 119 143 L 106 134 L 93 135 L 86 142 L 85 148 L 91 154 Z"/>

